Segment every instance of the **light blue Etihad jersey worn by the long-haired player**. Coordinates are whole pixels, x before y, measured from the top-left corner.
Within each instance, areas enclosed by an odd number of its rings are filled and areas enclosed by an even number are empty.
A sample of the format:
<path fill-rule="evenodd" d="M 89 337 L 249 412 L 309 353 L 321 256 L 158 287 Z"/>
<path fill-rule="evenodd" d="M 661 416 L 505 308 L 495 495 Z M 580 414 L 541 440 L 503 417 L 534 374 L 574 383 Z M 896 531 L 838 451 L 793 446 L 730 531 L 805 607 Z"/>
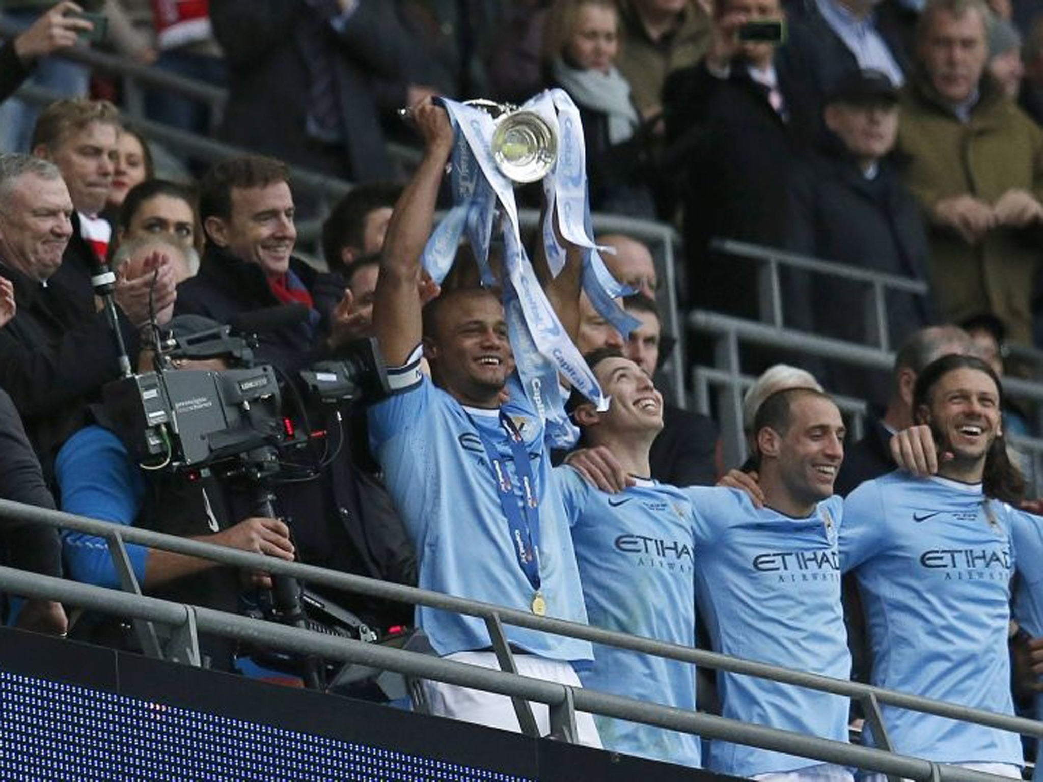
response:
<path fill-rule="evenodd" d="M 854 570 L 888 689 L 1013 714 L 1006 634 L 1013 510 L 980 484 L 893 472 L 847 498 L 844 570 Z M 895 751 L 1020 765 L 1014 733 L 881 704 Z M 868 736 L 872 741 L 872 736 Z"/>

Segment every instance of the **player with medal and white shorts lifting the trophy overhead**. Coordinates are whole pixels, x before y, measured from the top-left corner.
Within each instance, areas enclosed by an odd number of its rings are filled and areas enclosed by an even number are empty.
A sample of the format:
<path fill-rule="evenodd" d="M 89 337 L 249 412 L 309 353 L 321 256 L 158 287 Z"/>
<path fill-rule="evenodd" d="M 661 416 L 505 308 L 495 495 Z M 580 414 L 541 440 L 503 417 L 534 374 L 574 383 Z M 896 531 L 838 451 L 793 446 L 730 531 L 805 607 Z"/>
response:
<path fill-rule="evenodd" d="M 373 451 L 415 543 L 419 586 L 585 622 L 543 421 L 514 374 L 503 306 L 488 290 L 458 289 L 421 317 L 419 259 L 454 139 L 432 103 L 413 117 L 425 156 L 388 226 L 373 303 L 373 334 L 397 391 L 369 410 Z M 568 254 L 554 282 L 578 296 L 578 259 Z M 419 369 L 421 337 L 430 378 Z M 481 619 L 422 607 L 416 618 L 440 655 L 498 667 Z M 513 626 L 506 633 L 525 675 L 578 685 L 573 664 L 591 659 L 585 641 Z M 438 682 L 419 689 L 433 713 L 518 730 L 502 695 Z M 545 707 L 535 711 L 547 732 Z M 590 715 L 577 726 L 581 741 L 600 746 Z"/>

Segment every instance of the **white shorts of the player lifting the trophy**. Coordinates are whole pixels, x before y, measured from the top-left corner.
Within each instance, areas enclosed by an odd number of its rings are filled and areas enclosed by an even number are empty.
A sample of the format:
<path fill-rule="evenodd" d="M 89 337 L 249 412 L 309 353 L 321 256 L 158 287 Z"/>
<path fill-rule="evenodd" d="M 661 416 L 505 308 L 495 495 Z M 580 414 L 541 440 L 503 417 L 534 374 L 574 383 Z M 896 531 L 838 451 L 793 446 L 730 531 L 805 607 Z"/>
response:
<path fill-rule="evenodd" d="M 478 665 L 483 668 L 500 670 L 496 656 L 492 652 L 457 652 L 446 655 L 443 659 Z M 557 682 L 572 687 L 581 687 L 579 677 L 573 666 L 560 660 L 548 660 L 535 655 L 514 655 L 514 664 L 518 674 L 544 682 Z M 461 687 L 446 682 L 436 682 L 431 679 L 420 679 L 415 683 L 419 690 L 419 700 L 415 703 L 417 711 L 426 711 L 437 716 L 447 716 L 462 719 L 466 723 L 484 725 L 488 728 L 499 728 L 505 731 L 520 733 L 517 715 L 511 699 L 495 692 L 485 692 L 470 687 Z M 529 702 L 533 716 L 539 728 L 539 734 L 545 736 L 551 732 L 551 715 L 547 704 Z M 576 712 L 576 732 L 581 744 L 602 749 L 598 728 L 593 717 L 583 711 Z"/>

